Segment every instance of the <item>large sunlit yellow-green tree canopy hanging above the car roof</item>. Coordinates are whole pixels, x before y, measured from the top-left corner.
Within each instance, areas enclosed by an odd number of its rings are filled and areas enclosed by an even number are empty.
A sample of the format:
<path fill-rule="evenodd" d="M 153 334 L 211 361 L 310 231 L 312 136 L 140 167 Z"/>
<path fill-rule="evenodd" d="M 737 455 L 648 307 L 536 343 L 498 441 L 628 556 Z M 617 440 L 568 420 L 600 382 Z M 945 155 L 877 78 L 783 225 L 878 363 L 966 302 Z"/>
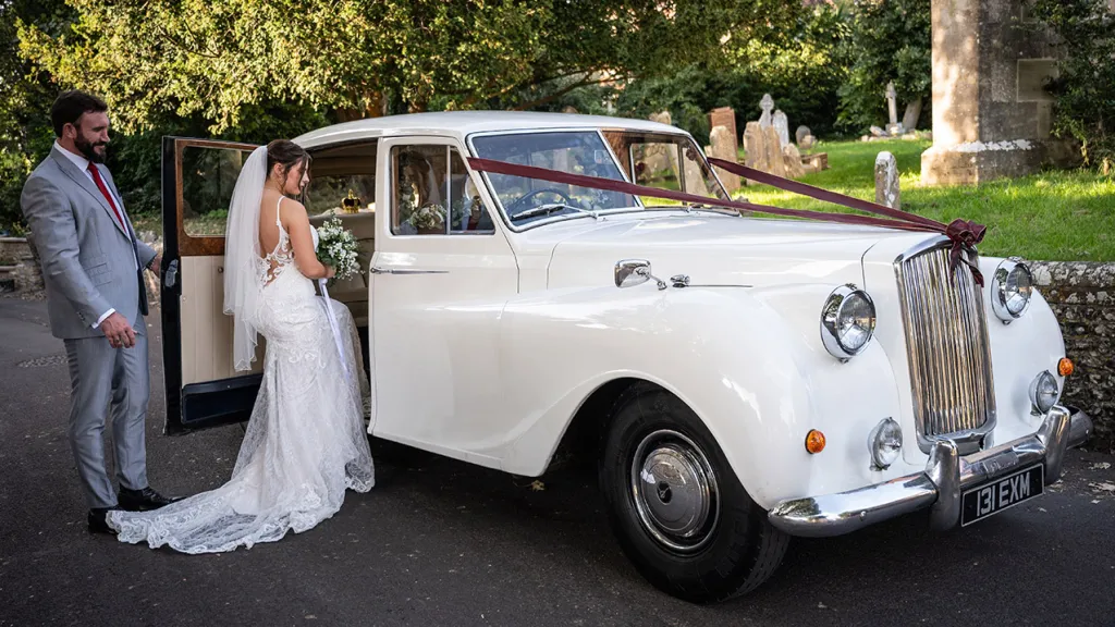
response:
<path fill-rule="evenodd" d="M 62 85 L 106 96 L 126 131 L 166 114 L 221 133 L 253 105 L 340 119 L 390 109 L 527 108 L 583 85 L 708 60 L 784 3 L 729 0 L 70 0 L 21 51 Z M 394 104 L 394 106 L 392 106 Z"/>

